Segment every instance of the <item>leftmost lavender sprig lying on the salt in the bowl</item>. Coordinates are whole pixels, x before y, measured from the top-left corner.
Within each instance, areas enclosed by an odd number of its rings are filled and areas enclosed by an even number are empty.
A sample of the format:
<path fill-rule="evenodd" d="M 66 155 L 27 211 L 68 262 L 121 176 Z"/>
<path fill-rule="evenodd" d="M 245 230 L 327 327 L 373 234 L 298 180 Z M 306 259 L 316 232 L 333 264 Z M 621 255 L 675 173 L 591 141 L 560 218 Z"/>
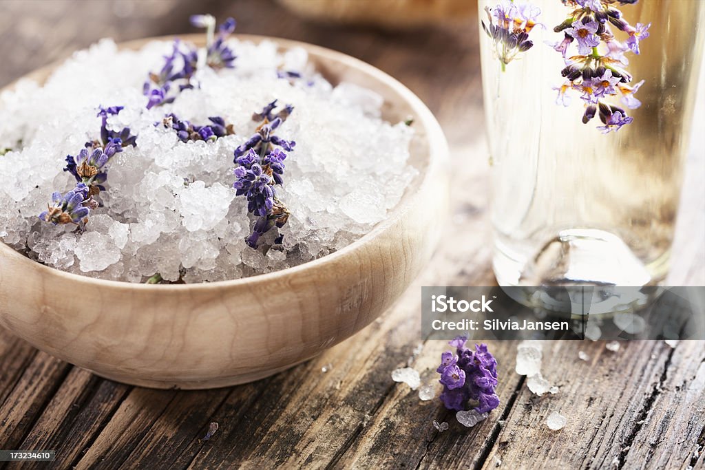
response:
<path fill-rule="evenodd" d="M 115 115 L 123 106 L 100 108 L 97 116 L 101 118 L 100 140 L 86 142 L 76 156 L 66 156 L 63 171 L 71 173 L 76 180 L 73 190 L 63 196 L 61 192 L 51 194 L 51 204 L 39 218 L 54 225 L 87 221 L 90 211 L 99 206 L 95 197 L 105 190 L 108 179 L 106 168 L 113 156 L 123 151 L 123 147 L 137 145 L 137 136 L 130 133 L 130 128 L 114 131 L 107 128 L 108 116 Z"/>

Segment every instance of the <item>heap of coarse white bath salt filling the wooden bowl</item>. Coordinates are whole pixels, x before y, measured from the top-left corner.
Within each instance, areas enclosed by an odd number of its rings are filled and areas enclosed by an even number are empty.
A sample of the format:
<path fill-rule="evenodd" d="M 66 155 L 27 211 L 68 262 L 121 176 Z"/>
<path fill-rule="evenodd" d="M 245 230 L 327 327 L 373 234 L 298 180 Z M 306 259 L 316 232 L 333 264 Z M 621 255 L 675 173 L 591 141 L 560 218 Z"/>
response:
<path fill-rule="evenodd" d="M 413 126 L 383 120 L 384 99 L 374 90 L 326 80 L 305 49 L 280 52 L 267 40 L 226 44 L 237 56 L 233 68 L 199 69 L 197 87 L 149 109 L 142 87 L 164 66 L 172 42 L 128 51 L 103 39 L 56 68 L 45 85 L 20 80 L 2 92 L 0 149 L 9 151 L 0 154 L 0 240 L 70 273 L 136 283 L 159 274 L 200 283 L 318 259 L 388 217 L 418 175 L 410 163 Z M 302 78 L 282 74 L 283 68 Z M 293 106 L 276 129 L 281 139 L 295 141 L 276 185 L 290 214 L 252 248 L 245 238 L 257 218 L 235 194 L 233 152 L 256 132 L 252 114 L 274 100 L 277 110 Z M 111 157 L 100 205 L 85 227 L 39 220 L 52 192 L 75 186 L 63 171 L 66 156 L 99 139 L 99 106 L 123 106 L 106 126 L 130 128 L 136 146 Z M 233 133 L 183 141 L 164 124 L 171 113 L 199 125 L 219 116 Z"/>

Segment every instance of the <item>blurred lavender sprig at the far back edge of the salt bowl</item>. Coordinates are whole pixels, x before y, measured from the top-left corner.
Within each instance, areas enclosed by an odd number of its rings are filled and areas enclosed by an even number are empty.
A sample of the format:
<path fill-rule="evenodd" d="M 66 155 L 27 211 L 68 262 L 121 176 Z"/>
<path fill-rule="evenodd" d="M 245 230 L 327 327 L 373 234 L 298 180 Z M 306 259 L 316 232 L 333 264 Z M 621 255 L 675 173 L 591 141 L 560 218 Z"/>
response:
<path fill-rule="evenodd" d="M 143 87 L 143 93 L 148 97 L 147 109 L 171 103 L 178 93 L 194 87 L 191 79 L 198 68 L 208 66 L 217 70 L 235 66 L 237 56 L 226 44 L 226 39 L 235 30 L 233 18 L 228 18 L 218 28 L 217 37 L 214 37 L 216 20 L 213 16 L 192 16 L 191 24 L 206 28 L 206 49 L 200 54 L 192 44 L 174 39 L 171 54 L 164 56 L 164 66 L 159 73 L 149 73 L 149 80 Z"/>

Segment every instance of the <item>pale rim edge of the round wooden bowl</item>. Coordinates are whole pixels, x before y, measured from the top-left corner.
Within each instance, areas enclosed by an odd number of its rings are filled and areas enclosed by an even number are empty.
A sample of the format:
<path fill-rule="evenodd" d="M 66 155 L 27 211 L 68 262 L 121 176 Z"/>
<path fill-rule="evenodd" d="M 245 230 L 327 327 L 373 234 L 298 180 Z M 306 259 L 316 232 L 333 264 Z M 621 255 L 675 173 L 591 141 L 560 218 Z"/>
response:
<path fill-rule="evenodd" d="M 198 34 L 185 34 L 185 35 L 166 35 L 166 36 L 156 36 L 156 37 L 145 37 L 142 39 L 133 39 L 126 42 L 118 42 L 116 46 L 118 50 L 132 49 L 137 50 L 144 47 L 149 42 L 159 42 L 159 41 L 173 41 L 175 38 L 188 40 L 195 44 L 203 43 L 203 35 Z M 96 287 L 111 287 L 125 290 L 140 289 L 154 292 L 183 292 L 185 290 L 216 290 L 223 287 L 244 287 L 247 285 L 255 285 L 258 283 L 269 283 L 270 281 L 276 281 L 281 278 L 286 278 L 290 275 L 296 275 L 302 271 L 311 270 L 318 268 L 319 266 L 325 266 L 327 264 L 336 263 L 341 258 L 345 258 L 350 254 L 357 252 L 357 249 L 364 245 L 365 243 L 376 239 L 382 233 L 384 233 L 391 225 L 396 223 L 398 219 L 402 218 L 410 209 L 410 206 L 414 203 L 415 199 L 418 199 L 419 193 L 424 190 L 424 187 L 431 184 L 431 176 L 436 170 L 436 166 L 441 164 L 442 157 L 448 154 L 448 143 L 446 142 L 446 137 L 443 134 L 441 125 L 433 113 L 428 109 L 426 104 L 417 97 L 417 95 L 412 92 L 408 87 L 403 85 L 399 80 L 393 78 L 388 73 L 372 66 L 371 64 L 344 54 L 343 52 L 329 49 L 327 47 L 322 47 L 317 44 L 309 44 L 307 42 L 296 41 L 293 39 L 286 39 L 267 35 L 251 35 L 251 34 L 234 34 L 231 37 L 238 39 L 239 41 L 250 41 L 250 42 L 263 42 L 271 41 L 276 43 L 277 49 L 291 49 L 293 47 L 302 47 L 306 49 L 309 55 L 314 54 L 320 58 L 333 58 L 338 63 L 342 63 L 350 68 L 355 68 L 361 70 L 366 75 L 372 76 L 375 80 L 388 85 L 394 89 L 400 96 L 410 105 L 414 110 L 416 116 L 415 122 L 422 123 L 424 130 L 426 130 L 425 138 L 429 147 L 429 158 L 427 159 L 428 165 L 426 171 L 419 172 L 417 178 L 421 178 L 416 189 L 410 194 L 403 194 L 402 199 L 398 203 L 398 206 L 394 208 L 389 216 L 383 221 L 380 221 L 372 230 L 368 233 L 362 235 L 354 242 L 350 243 L 331 254 L 326 254 L 320 258 L 313 259 L 311 261 L 306 261 L 305 263 L 299 264 L 297 266 L 292 266 L 290 268 L 280 269 L 278 271 L 272 271 L 271 273 L 255 274 L 254 276 L 247 276 L 245 278 L 238 279 L 228 279 L 228 280 L 218 280 L 214 282 L 202 282 L 202 283 L 190 283 L 190 284 L 145 284 L 145 283 L 130 283 L 125 280 L 109 280 L 102 278 L 93 278 L 91 276 L 85 276 L 81 274 L 68 273 L 66 271 L 61 271 L 59 268 L 54 268 L 47 266 L 46 264 L 39 263 L 39 261 L 32 260 L 27 256 L 17 252 L 15 249 L 7 245 L 5 242 L 0 240 L 0 256 L 13 256 L 18 263 L 27 263 L 28 266 L 31 264 L 32 268 L 39 270 L 39 273 L 44 273 L 47 276 L 57 276 L 59 278 L 64 278 L 65 280 L 88 283 L 95 285 Z M 99 39 L 102 40 L 102 39 Z M 93 43 L 95 44 L 95 42 Z M 81 50 L 81 49 L 79 49 Z M 72 53 L 73 55 L 73 53 Z M 35 80 L 39 82 L 39 85 L 44 85 L 43 82 L 46 81 L 48 76 L 39 79 L 36 78 L 37 75 L 47 75 L 51 70 L 56 69 L 61 66 L 69 57 L 60 58 L 54 62 L 49 63 L 47 66 L 37 68 L 32 70 L 32 72 L 23 75 L 17 80 L 13 80 L 8 85 L 0 88 L 0 92 L 8 89 L 12 89 L 20 80 Z"/>

